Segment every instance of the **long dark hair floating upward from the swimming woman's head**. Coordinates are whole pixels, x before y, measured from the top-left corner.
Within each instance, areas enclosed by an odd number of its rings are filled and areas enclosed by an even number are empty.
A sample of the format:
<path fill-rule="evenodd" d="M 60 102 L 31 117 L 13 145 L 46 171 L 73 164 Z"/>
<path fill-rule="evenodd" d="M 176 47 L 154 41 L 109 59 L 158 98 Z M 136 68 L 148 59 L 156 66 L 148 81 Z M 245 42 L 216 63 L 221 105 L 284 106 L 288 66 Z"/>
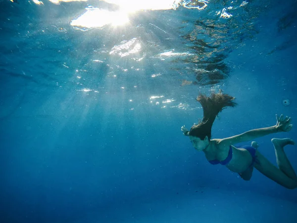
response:
<path fill-rule="evenodd" d="M 199 137 L 201 140 L 208 136 L 210 140 L 211 127 L 216 116 L 223 109 L 236 106 L 237 103 L 233 102 L 234 99 L 230 95 L 223 94 L 221 90 L 217 94 L 211 92 L 209 97 L 200 93 L 196 100 L 200 102 L 203 108 L 203 119 L 198 124 L 192 126 L 189 135 Z"/>

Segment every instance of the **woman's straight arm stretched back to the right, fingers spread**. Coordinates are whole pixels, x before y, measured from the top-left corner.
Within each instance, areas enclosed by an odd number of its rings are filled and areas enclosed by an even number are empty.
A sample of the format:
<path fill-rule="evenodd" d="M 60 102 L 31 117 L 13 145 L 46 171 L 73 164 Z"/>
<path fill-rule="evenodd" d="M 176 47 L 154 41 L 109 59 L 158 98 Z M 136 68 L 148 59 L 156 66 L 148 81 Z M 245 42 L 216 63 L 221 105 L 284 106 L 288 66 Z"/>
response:
<path fill-rule="evenodd" d="M 276 125 L 271 126 L 271 127 L 267 127 L 267 128 L 257 128 L 257 129 L 252 129 L 249 130 L 247 132 L 244 132 L 240 135 L 235 135 L 235 136 L 231 136 L 225 139 L 221 139 L 219 141 L 219 144 L 221 145 L 233 145 L 236 143 L 240 143 L 240 142 L 246 142 L 246 141 L 250 141 L 253 140 L 255 138 L 259 138 L 265 135 L 269 135 L 272 133 L 277 133 L 277 132 L 288 132 L 292 129 L 293 125 L 290 124 L 291 122 L 291 117 L 284 117 L 283 114 L 281 114 L 281 116 L 277 116 L 276 115 Z"/>

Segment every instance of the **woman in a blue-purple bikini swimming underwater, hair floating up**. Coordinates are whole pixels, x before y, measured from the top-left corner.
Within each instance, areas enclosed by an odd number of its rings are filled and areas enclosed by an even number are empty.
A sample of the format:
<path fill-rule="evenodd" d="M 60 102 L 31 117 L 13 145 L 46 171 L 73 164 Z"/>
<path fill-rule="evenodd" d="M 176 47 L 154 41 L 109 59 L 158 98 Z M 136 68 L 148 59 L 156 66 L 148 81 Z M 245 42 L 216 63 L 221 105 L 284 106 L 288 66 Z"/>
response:
<path fill-rule="evenodd" d="M 297 176 L 291 166 L 285 152 L 286 145 L 294 145 L 294 141 L 289 138 L 272 139 L 275 149 L 278 167 L 270 163 L 257 150 L 257 143 L 252 142 L 251 146 L 235 147 L 234 144 L 247 142 L 276 132 L 288 132 L 293 125 L 290 124 L 291 117 L 277 116 L 277 123 L 274 126 L 249 130 L 240 135 L 231 136 L 224 139 L 211 139 L 211 127 L 219 112 L 227 107 L 234 107 L 234 98 L 221 91 L 217 94 L 211 93 L 210 97 L 200 94 L 197 101 L 203 108 L 203 119 L 198 124 L 194 124 L 188 131 L 182 126 L 184 135 L 189 136 L 194 148 L 203 151 L 206 159 L 212 165 L 221 164 L 233 172 L 237 172 L 244 180 L 249 180 L 255 167 L 262 174 L 274 180 L 278 184 L 294 189 L 297 187 Z"/>

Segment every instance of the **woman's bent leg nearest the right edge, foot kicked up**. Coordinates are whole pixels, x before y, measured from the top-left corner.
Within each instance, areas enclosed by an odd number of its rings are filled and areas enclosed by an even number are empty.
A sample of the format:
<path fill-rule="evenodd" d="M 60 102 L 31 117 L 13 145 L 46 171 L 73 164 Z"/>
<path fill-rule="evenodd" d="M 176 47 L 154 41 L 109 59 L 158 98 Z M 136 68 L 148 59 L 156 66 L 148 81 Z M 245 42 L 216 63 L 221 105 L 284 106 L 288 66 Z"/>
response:
<path fill-rule="evenodd" d="M 297 187 L 297 177 L 294 169 L 292 168 L 285 152 L 284 146 L 294 145 L 294 141 L 291 139 L 272 139 L 271 140 L 277 157 L 277 164 L 275 167 L 270 163 L 262 154 L 256 151 L 257 162 L 254 167 L 259 170 L 262 174 L 272 179 L 273 181 L 281 184 L 282 186 L 294 189 Z"/>

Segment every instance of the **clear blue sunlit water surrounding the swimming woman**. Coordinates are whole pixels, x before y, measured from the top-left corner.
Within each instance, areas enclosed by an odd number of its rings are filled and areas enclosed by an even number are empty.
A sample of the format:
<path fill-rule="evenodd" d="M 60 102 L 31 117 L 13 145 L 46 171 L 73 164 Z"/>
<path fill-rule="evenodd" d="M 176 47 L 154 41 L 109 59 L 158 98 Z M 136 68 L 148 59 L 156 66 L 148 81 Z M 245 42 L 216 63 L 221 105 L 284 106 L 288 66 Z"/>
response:
<path fill-rule="evenodd" d="M 295 223 L 296 189 L 210 165 L 180 129 L 222 89 L 238 106 L 214 138 L 292 117 L 256 139 L 276 165 L 270 139 L 297 140 L 297 1 L 176 1 L 98 25 L 135 2 L 0 0 L 0 223 Z"/>

